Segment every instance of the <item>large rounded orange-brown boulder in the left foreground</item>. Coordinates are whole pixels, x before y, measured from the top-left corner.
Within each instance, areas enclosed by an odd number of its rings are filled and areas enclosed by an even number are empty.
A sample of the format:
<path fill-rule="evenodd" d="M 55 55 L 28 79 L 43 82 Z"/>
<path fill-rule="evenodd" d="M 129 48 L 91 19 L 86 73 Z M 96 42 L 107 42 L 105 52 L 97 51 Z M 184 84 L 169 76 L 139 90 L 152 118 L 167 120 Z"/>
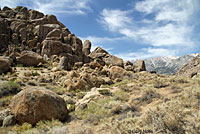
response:
<path fill-rule="evenodd" d="M 65 101 L 49 90 L 26 89 L 15 95 L 10 104 L 20 124 L 32 125 L 40 120 L 65 120 L 68 114 Z"/>

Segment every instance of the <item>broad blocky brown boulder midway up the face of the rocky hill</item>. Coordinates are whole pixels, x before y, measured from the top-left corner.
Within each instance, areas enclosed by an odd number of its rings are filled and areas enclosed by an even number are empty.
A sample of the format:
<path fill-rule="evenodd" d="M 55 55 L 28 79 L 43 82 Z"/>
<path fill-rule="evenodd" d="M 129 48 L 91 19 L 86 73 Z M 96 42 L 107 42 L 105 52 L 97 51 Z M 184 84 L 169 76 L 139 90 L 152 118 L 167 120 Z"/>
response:
<path fill-rule="evenodd" d="M 48 57 L 50 57 L 52 55 L 59 55 L 61 53 L 72 54 L 71 46 L 54 40 L 44 40 L 42 42 L 42 55 L 46 54 Z"/>

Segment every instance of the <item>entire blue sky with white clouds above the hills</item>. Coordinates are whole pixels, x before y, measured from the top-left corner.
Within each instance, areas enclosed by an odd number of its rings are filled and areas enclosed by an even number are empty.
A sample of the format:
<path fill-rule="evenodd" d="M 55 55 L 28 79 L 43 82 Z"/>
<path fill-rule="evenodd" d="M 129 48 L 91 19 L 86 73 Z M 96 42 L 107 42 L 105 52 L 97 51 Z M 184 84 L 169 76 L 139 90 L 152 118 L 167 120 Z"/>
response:
<path fill-rule="evenodd" d="M 1 0 L 54 14 L 124 60 L 200 52 L 200 0 Z"/>

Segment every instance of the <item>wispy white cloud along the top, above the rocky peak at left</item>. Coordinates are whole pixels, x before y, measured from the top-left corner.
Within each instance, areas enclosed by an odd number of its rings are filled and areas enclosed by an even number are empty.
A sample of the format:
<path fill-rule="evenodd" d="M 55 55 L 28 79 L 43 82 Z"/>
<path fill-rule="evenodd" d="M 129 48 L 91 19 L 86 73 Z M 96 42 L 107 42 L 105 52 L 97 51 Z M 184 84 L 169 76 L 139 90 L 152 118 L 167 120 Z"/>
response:
<path fill-rule="evenodd" d="M 91 0 L 1 0 L 1 5 L 14 8 L 22 4 L 45 14 L 84 15 L 92 10 L 89 6 L 90 2 Z"/>

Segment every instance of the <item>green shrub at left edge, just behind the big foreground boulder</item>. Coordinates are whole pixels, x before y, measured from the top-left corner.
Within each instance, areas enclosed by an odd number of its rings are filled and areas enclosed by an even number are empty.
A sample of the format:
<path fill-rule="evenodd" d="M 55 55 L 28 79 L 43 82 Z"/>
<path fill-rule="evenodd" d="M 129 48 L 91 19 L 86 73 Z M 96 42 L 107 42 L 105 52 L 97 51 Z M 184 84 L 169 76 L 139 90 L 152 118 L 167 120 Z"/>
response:
<path fill-rule="evenodd" d="M 13 81 L 4 82 L 0 88 L 0 97 L 9 94 L 16 94 L 21 90 L 20 85 Z"/>

